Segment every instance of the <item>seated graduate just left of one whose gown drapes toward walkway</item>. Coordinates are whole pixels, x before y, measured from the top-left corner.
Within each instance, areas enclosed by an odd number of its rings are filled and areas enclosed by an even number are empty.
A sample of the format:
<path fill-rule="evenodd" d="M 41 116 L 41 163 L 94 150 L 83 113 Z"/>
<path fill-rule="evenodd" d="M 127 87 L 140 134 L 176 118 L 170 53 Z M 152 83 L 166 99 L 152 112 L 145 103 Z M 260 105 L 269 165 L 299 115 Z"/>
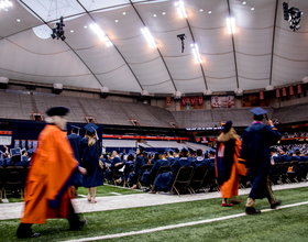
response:
<path fill-rule="evenodd" d="M 160 155 L 160 160 L 154 163 L 151 170 L 145 170 L 142 174 L 141 182 L 143 182 L 144 185 L 146 186 L 146 191 L 150 190 L 150 185 L 153 184 L 158 168 L 162 165 L 170 165 L 170 162 L 166 158 L 166 153 L 164 151 L 160 151 L 158 155 Z"/>

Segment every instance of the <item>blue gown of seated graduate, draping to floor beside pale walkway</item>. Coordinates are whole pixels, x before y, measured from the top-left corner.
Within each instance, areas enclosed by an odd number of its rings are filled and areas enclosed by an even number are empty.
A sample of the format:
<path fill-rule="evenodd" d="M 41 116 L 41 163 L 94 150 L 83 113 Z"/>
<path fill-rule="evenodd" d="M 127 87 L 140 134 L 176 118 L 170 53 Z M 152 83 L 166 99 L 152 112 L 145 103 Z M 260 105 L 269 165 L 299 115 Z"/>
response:
<path fill-rule="evenodd" d="M 178 169 L 183 166 L 189 167 L 189 166 L 191 166 L 191 162 L 188 161 L 187 157 L 182 157 L 178 161 L 176 161 L 170 166 L 170 172 L 162 173 L 157 176 L 157 178 L 155 180 L 155 187 L 158 190 L 169 191 L 172 188 L 172 184 L 177 175 Z"/>

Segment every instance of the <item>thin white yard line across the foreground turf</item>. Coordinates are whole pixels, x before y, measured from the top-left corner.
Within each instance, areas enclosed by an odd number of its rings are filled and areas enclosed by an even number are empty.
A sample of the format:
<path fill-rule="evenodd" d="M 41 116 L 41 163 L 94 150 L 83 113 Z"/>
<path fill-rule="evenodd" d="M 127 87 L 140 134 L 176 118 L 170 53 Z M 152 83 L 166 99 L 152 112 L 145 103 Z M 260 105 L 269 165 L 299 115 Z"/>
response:
<path fill-rule="evenodd" d="M 297 206 L 301 206 L 301 205 L 308 205 L 308 201 L 280 206 L 277 209 L 297 207 Z M 275 211 L 277 209 L 264 209 L 264 210 L 262 210 L 262 212 Z M 239 218 L 239 217 L 243 217 L 243 216 L 246 216 L 246 215 L 245 213 L 239 213 L 239 215 L 227 216 L 227 217 L 221 217 L 221 218 L 216 218 L 216 219 L 206 219 L 206 220 L 195 221 L 195 222 L 185 222 L 185 223 L 179 223 L 179 224 L 174 224 L 174 226 L 157 227 L 157 228 L 141 230 L 141 231 L 132 231 L 132 232 L 127 232 L 127 233 L 116 233 L 116 234 L 85 238 L 85 239 L 78 239 L 78 240 L 68 240 L 66 242 L 96 241 L 96 240 L 106 240 L 106 239 L 114 239 L 114 238 L 138 235 L 138 234 L 144 234 L 144 233 L 158 232 L 158 231 L 163 231 L 163 230 L 170 230 L 170 229 L 177 229 L 177 228 L 183 228 L 183 227 L 198 226 L 198 224 L 202 224 L 202 223 L 222 221 L 222 220 Z"/>

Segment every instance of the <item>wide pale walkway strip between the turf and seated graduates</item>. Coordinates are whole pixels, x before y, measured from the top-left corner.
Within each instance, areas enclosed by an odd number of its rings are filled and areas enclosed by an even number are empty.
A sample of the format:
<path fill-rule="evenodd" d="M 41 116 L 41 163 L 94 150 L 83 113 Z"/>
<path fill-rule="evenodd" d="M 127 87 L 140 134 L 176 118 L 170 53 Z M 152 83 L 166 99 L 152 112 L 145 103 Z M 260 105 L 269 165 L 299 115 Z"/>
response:
<path fill-rule="evenodd" d="M 109 186 L 109 185 L 106 185 Z M 292 188 L 308 187 L 308 183 L 299 184 L 285 184 L 285 185 L 275 185 L 273 190 L 284 190 Z M 118 187 L 121 189 L 121 187 Z M 125 188 L 122 188 L 125 189 Z M 248 195 L 250 188 L 240 189 L 239 196 Z M 158 205 L 168 205 L 177 204 L 185 201 L 197 201 L 206 200 L 212 198 L 220 198 L 220 193 L 199 193 L 197 195 L 168 195 L 165 193 L 158 193 L 155 195 L 150 195 L 147 193 L 139 193 L 131 195 L 119 195 L 119 196 L 107 196 L 107 197 L 97 197 L 97 204 L 89 204 L 87 198 L 73 199 L 75 209 L 78 213 L 81 212 L 96 212 L 96 211 L 107 211 L 107 210 L 117 210 L 117 209 L 127 209 L 127 208 L 139 208 L 147 206 L 158 206 Z M 10 202 L 10 204 L 0 204 L 0 220 L 8 219 L 19 219 L 22 216 L 23 202 Z"/>

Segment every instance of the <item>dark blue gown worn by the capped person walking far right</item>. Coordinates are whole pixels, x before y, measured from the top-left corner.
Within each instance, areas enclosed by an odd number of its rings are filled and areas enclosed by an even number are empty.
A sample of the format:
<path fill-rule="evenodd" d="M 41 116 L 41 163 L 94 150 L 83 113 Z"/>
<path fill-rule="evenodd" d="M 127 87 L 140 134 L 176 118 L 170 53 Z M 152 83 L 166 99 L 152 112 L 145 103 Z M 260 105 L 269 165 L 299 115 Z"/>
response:
<path fill-rule="evenodd" d="M 267 176 L 271 169 L 270 146 L 275 144 L 282 134 L 270 125 L 254 123 L 243 133 L 241 160 L 250 162 L 252 189 L 249 195 L 253 199 L 267 196 Z"/>

